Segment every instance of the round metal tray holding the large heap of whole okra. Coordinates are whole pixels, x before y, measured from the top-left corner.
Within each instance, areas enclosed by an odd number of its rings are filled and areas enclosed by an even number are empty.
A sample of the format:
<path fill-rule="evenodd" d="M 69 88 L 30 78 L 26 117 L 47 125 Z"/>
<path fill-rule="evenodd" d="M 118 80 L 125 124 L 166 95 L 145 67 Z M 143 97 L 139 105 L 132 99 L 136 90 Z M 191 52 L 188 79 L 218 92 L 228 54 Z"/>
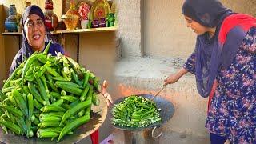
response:
<path fill-rule="evenodd" d="M 90 134 L 94 133 L 95 130 L 98 130 L 102 123 L 106 119 L 107 114 L 107 105 L 106 99 L 102 96 L 102 94 L 98 94 L 98 98 L 100 100 L 99 106 L 91 107 L 92 113 L 90 121 L 86 124 L 78 127 L 77 130 L 74 130 L 74 134 L 66 135 L 62 140 L 58 143 L 77 143 L 82 139 L 86 138 Z M 17 136 L 14 134 L 5 134 L 2 130 L 0 130 L 0 143 L 56 143 L 56 138 L 51 141 L 50 138 L 26 138 L 25 136 Z"/>

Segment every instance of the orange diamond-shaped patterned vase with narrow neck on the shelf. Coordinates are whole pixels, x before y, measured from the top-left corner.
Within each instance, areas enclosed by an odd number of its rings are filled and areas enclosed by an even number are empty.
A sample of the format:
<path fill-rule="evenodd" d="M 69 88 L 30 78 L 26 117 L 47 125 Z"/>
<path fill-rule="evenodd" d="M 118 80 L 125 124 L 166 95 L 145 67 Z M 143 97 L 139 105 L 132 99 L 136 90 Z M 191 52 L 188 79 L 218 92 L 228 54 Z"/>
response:
<path fill-rule="evenodd" d="M 78 10 L 76 10 L 75 2 L 70 0 L 70 9 L 66 11 L 66 14 L 62 15 L 62 21 L 66 25 L 66 30 L 74 30 L 79 21 Z"/>

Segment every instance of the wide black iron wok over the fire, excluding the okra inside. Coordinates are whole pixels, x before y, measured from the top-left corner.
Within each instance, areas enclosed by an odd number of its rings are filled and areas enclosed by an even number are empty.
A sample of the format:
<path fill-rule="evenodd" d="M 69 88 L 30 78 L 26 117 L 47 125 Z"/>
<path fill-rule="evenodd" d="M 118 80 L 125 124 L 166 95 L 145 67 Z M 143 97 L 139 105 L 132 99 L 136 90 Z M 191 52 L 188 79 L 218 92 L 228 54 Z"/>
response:
<path fill-rule="evenodd" d="M 136 95 L 142 96 L 142 97 L 148 98 L 148 99 L 154 97 L 154 95 L 151 95 L 151 94 L 136 94 Z M 116 100 L 114 102 L 114 105 L 124 101 L 126 98 L 127 97 L 119 98 L 118 100 Z M 144 130 L 147 128 L 150 129 L 150 128 L 162 126 L 162 124 L 168 122 L 170 120 L 170 118 L 172 118 L 172 116 L 174 115 L 174 105 L 171 102 L 167 101 L 166 99 L 161 98 L 160 96 L 155 97 L 153 99 L 153 101 L 156 103 L 158 109 L 161 109 L 160 117 L 162 120 L 160 122 L 155 122 L 146 127 L 127 127 L 127 126 L 116 126 L 116 125 L 113 125 L 113 126 L 120 130 Z M 113 107 L 114 106 L 111 107 L 111 110 L 113 109 Z M 112 117 L 113 117 L 113 115 L 112 115 Z"/>

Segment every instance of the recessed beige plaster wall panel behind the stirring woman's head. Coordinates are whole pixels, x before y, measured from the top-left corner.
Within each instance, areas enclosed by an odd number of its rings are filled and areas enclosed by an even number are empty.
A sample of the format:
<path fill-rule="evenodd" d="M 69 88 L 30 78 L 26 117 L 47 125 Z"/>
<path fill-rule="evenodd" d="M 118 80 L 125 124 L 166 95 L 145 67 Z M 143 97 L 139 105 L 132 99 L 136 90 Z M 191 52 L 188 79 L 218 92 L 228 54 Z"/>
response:
<path fill-rule="evenodd" d="M 187 57 L 194 50 L 195 34 L 186 27 L 183 0 L 144 1 L 146 55 Z M 222 0 L 234 12 L 256 14 L 256 0 Z"/>

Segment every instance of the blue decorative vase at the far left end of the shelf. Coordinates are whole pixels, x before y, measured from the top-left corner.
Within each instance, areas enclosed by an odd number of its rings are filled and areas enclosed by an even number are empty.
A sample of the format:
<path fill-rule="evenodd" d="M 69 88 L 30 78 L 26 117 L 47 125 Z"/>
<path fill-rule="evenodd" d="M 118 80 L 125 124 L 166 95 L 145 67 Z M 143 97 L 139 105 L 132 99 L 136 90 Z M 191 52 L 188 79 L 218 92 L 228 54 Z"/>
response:
<path fill-rule="evenodd" d="M 9 32 L 17 32 L 17 11 L 15 5 L 10 5 L 9 16 L 6 18 L 5 27 Z"/>

